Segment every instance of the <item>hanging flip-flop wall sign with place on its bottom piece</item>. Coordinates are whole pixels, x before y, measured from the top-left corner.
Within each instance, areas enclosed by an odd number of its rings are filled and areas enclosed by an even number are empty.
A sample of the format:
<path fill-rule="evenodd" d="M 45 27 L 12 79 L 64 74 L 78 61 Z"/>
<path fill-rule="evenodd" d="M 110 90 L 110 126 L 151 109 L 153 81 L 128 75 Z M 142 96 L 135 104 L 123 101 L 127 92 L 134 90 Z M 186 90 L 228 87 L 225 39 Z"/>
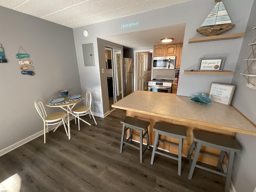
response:
<path fill-rule="evenodd" d="M 21 50 L 23 50 L 21 52 Z M 29 59 L 30 55 L 20 46 L 16 58 L 20 59 L 18 64 L 20 65 L 20 70 L 22 75 L 34 75 L 34 67 L 32 66 L 32 61 Z"/>

